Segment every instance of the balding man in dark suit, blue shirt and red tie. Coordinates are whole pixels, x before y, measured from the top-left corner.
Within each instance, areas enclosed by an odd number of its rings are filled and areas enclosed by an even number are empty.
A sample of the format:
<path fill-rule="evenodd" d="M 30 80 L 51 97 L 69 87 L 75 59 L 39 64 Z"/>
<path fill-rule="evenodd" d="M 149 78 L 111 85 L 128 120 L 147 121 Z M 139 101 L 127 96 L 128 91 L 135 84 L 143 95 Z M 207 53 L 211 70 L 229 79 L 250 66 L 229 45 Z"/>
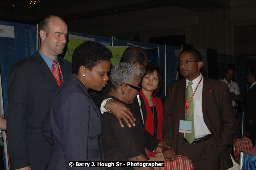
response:
<path fill-rule="evenodd" d="M 41 46 L 14 64 L 7 84 L 7 134 L 11 169 L 45 169 L 51 145 L 41 123 L 51 99 L 71 73 L 71 63 L 58 57 L 67 43 L 67 24 L 57 16 L 39 23 Z"/>

